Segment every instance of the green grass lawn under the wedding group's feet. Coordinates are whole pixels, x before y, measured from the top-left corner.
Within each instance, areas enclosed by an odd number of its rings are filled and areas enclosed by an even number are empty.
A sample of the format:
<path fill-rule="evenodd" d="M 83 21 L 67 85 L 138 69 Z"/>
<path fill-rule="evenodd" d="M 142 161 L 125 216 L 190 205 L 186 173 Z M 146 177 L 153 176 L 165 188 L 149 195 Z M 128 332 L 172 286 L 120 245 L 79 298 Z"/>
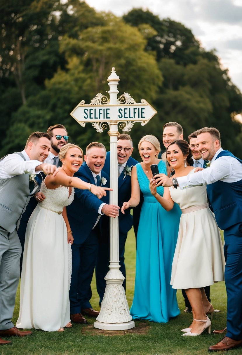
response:
<path fill-rule="evenodd" d="M 135 278 L 135 238 L 133 230 L 128 234 L 125 251 L 127 270 L 127 301 L 131 306 L 134 292 Z M 92 305 L 99 309 L 99 298 L 95 288 L 95 280 L 92 282 Z M 221 313 L 214 313 L 212 330 L 226 326 L 226 290 L 224 282 L 211 286 L 210 297 L 214 308 Z M 73 323 L 73 327 L 65 332 L 43 332 L 33 330 L 33 334 L 25 338 L 11 338 L 12 345 L 2 346 L 0 354 L 6 355 L 155 355 L 155 354 L 181 354 L 203 355 L 208 354 L 208 347 L 216 344 L 220 335 L 204 333 L 199 337 L 181 337 L 181 329 L 189 326 L 192 315 L 183 312 L 184 301 L 182 293 L 177 292 L 178 304 L 181 314 L 167 324 L 159 324 L 145 321 L 150 325 L 145 335 L 86 335 L 82 334 L 80 324 Z M 55 300 L 53 300 L 54 302 Z M 16 323 L 19 310 L 19 289 L 16 297 L 16 307 L 13 322 Z M 89 323 L 94 323 L 94 318 L 88 318 Z M 140 322 L 136 321 L 136 324 Z M 9 338 L 10 339 L 10 338 Z M 241 354 L 241 348 L 232 351 L 233 355 Z M 224 354 L 224 353 L 219 353 Z"/>

